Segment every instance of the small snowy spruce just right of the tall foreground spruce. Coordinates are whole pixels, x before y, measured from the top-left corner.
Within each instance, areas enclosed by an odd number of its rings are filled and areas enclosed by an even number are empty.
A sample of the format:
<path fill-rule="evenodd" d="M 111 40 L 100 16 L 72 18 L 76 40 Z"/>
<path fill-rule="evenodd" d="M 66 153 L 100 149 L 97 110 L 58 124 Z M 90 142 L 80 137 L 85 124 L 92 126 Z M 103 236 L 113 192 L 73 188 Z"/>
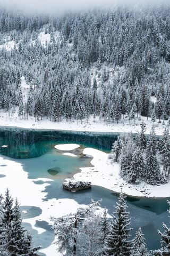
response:
<path fill-rule="evenodd" d="M 146 249 L 145 237 L 143 236 L 141 228 L 135 233 L 135 237 L 132 240 L 132 255 L 133 256 L 149 256 L 149 252 Z"/>

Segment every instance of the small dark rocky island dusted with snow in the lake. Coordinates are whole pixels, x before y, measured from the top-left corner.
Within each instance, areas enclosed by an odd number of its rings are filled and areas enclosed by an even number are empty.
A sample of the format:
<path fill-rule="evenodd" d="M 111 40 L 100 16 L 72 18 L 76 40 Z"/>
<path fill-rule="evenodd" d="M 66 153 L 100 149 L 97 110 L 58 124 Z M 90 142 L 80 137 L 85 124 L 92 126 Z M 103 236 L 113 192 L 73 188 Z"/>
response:
<path fill-rule="evenodd" d="M 63 182 L 63 188 L 69 191 L 78 191 L 91 188 L 90 181 L 67 181 Z"/>

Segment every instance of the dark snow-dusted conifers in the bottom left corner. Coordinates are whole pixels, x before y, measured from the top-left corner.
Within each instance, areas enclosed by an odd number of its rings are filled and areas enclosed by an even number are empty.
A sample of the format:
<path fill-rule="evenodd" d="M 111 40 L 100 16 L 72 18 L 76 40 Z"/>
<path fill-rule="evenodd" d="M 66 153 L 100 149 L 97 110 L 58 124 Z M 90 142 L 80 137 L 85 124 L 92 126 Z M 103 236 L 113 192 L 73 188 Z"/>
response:
<path fill-rule="evenodd" d="M 14 204 L 14 205 L 13 205 Z M 0 254 L 1 256 L 39 256 L 41 248 L 31 247 L 32 236 L 22 227 L 19 202 L 7 189 L 5 197 L 0 195 Z"/>

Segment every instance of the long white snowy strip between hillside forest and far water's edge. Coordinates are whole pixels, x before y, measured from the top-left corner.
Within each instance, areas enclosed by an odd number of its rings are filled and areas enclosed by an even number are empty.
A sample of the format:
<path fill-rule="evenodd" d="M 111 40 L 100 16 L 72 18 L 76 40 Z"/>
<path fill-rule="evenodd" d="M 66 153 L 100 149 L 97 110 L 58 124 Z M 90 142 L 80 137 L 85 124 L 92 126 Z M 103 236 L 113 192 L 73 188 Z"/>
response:
<path fill-rule="evenodd" d="M 146 134 L 150 133 L 152 122 L 150 118 L 142 117 L 142 120 L 146 123 Z M 98 117 L 94 118 L 91 116 L 88 120 L 83 119 L 81 121 L 68 121 L 65 119 L 62 122 L 53 122 L 49 121 L 46 117 L 43 120 L 35 121 L 35 117 L 29 117 L 29 119 L 20 119 L 18 114 L 14 113 L 12 117 L 9 117 L 7 113 L 0 110 L 0 125 L 1 126 L 16 126 L 28 129 L 46 129 L 46 130 L 67 130 L 67 131 L 86 131 L 86 132 L 132 132 L 136 133 L 141 130 L 140 120 L 136 120 L 135 124 L 133 121 L 129 122 L 128 118 L 124 118 L 120 121 L 120 123 L 106 123 L 102 120 L 99 120 Z M 165 125 L 167 121 L 165 121 Z M 162 123 L 155 122 L 155 131 L 157 135 L 163 135 L 163 131 L 165 129 L 165 125 Z"/>

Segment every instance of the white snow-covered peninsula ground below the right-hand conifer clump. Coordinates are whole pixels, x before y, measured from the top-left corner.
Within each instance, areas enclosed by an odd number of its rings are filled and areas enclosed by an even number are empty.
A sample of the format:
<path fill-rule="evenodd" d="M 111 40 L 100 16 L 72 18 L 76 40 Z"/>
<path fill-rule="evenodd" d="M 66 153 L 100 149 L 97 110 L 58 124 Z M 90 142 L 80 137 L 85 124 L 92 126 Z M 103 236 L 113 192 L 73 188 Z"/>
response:
<path fill-rule="evenodd" d="M 74 179 L 81 181 L 91 181 L 92 185 L 97 185 L 111 189 L 120 193 L 121 188 L 126 195 L 139 197 L 170 197 L 169 182 L 165 185 L 152 186 L 145 182 L 139 185 L 126 183 L 119 175 L 120 165 L 112 164 L 108 159 L 109 154 L 92 148 L 85 148 L 83 154 L 93 157 L 91 164 L 94 167 L 80 168 L 81 172 L 74 175 Z"/>

